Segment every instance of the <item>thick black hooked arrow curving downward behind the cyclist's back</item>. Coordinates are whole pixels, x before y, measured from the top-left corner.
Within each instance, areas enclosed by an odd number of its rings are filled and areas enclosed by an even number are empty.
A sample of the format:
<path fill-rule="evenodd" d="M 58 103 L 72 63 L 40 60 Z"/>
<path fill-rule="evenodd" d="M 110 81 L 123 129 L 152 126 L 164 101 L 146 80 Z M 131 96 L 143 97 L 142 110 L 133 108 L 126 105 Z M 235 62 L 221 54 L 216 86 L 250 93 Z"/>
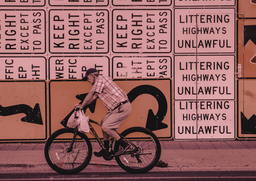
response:
<path fill-rule="evenodd" d="M 164 116 L 167 113 L 167 101 L 161 90 L 150 85 L 141 85 L 132 89 L 128 94 L 130 102 L 137 98 L 141 94 L 149 94 L 156 98 L 158 102 L 158 111 L 154 115 L 152 109 L 148 110 L 148 118 L 146 128 L 150 130 L 159 130 L 168 127 L 165 123 L 162 123 Z M 147 104 L 147 102 L 145 102 Z"/>

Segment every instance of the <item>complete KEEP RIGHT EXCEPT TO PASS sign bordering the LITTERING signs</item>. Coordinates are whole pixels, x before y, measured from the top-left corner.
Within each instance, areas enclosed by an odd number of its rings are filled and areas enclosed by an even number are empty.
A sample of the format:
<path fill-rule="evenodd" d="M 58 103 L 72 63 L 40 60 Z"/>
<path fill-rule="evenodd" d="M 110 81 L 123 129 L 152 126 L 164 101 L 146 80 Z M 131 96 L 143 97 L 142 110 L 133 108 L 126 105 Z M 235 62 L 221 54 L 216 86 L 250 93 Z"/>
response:
<path fill-rule="evenodd" d="M 171 10 L 113 10 L 113 52 L 159 52 L 172 50 Z"/>

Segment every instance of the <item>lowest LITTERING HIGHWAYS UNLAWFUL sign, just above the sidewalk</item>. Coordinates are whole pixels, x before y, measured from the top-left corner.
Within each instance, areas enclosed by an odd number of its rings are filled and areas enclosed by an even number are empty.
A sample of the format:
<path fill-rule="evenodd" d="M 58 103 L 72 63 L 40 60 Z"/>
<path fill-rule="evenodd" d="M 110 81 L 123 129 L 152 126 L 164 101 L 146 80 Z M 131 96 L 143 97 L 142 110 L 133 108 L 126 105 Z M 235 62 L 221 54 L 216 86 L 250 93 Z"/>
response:
<path fill-rule="evenodd" d="M 235 139 L 234 100 L 175 100 L 174 139 Z"/>

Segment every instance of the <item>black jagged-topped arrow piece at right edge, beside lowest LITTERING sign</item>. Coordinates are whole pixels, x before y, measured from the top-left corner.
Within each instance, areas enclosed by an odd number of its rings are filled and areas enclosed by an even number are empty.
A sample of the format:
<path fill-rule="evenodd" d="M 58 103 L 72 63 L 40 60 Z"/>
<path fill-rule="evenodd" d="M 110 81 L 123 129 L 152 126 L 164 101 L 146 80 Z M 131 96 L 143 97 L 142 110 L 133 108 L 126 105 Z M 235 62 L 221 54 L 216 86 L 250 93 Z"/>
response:
<path fill-rule="evenodd" d="M 256 116 L 253 114 L 248 120 L 241 112 L 241 132 L 242 134 L 256 134 Z"/>

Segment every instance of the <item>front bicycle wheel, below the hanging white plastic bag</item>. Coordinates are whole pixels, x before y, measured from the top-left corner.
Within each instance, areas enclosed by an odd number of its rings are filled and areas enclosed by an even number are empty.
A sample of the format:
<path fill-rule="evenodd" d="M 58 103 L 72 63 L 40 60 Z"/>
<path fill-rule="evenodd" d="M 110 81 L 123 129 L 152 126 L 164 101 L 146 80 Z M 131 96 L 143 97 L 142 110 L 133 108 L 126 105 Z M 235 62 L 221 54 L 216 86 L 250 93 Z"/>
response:
<path fill-rule="evenodd" d="M 67 151 L 74 132 L 74 128 L 56 130 L 45 143 L 45 159 L 49 166 L 58 173 L 78 173 L 86 168 L 92 158 L 92 144 L 81 132 L 77 132 L 72 150 Z"/>

